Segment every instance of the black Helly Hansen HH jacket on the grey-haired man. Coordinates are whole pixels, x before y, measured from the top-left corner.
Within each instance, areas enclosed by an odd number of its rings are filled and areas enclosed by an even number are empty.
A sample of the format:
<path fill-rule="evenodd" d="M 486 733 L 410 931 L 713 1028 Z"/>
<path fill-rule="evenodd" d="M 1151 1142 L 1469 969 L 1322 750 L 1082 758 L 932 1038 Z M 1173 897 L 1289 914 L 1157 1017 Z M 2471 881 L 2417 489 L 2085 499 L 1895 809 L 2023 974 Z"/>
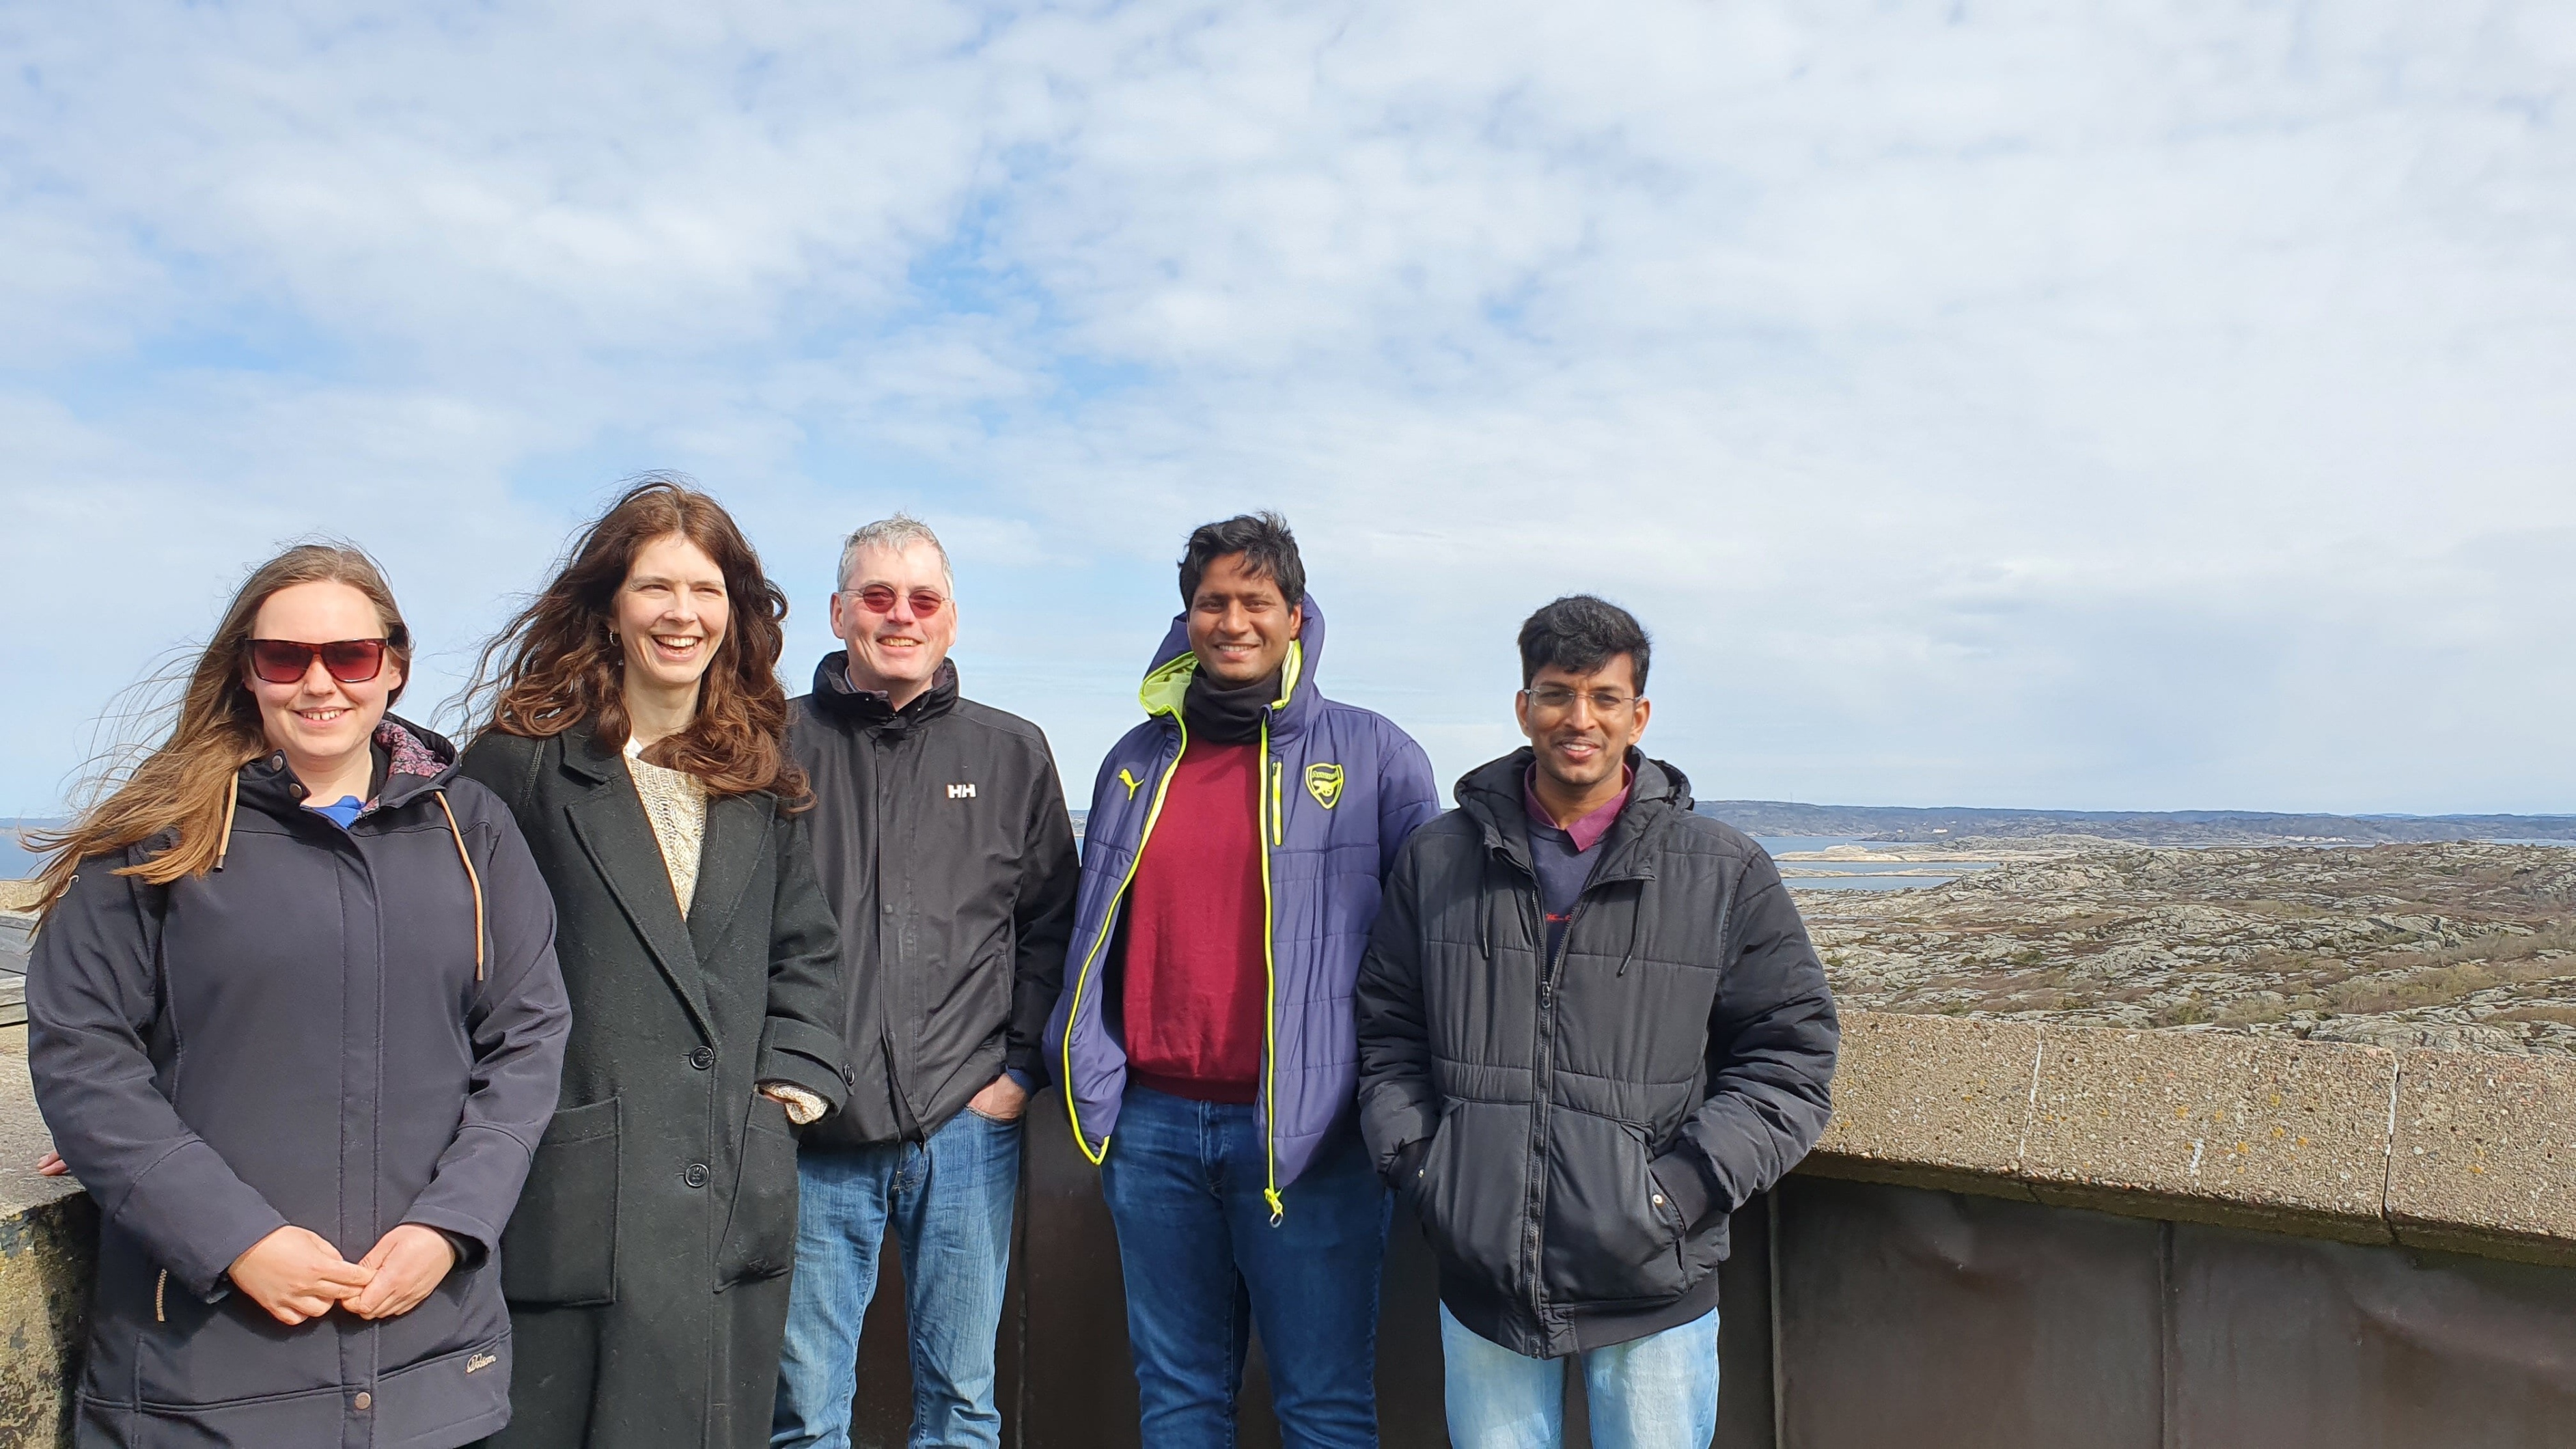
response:
<path fill-rule="evenodd" d="M 848 663 L 824 655 L 788 724 L 850 980 L 850 1104 L 801 1132 L 824 1147 L 920 1142 L 1005 1067 L 1046 1085 L 1079 879 L 1036 724 L 961 699 L 953 663 L 902 709 Z"/>

